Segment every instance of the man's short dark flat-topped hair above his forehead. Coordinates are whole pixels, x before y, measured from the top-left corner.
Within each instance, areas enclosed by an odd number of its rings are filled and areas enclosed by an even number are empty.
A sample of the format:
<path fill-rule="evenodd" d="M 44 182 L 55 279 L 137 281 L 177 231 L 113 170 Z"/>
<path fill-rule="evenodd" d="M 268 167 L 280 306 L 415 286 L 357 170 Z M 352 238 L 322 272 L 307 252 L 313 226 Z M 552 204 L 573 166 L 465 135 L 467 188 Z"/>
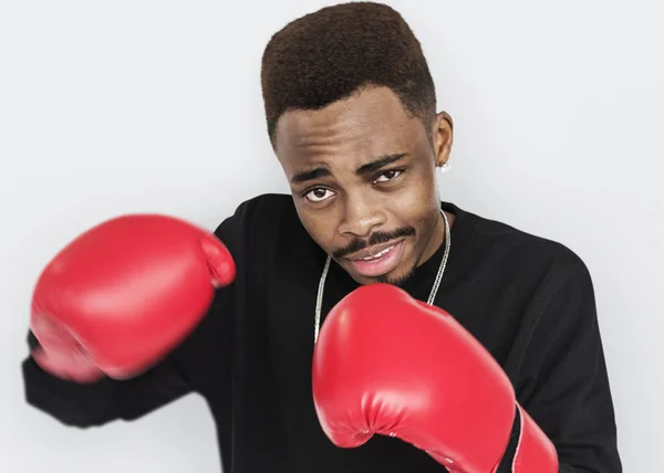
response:
<path fill-rule="evenodd" d="M 419 41 L 382 3 L 325 7 L 293 20 L 266 46 L 261 86 L 268 134 L 289 109 L 318 109 L 363 86 L 386 86 L 405 111 L 433 122 L 436 92 Z"/>

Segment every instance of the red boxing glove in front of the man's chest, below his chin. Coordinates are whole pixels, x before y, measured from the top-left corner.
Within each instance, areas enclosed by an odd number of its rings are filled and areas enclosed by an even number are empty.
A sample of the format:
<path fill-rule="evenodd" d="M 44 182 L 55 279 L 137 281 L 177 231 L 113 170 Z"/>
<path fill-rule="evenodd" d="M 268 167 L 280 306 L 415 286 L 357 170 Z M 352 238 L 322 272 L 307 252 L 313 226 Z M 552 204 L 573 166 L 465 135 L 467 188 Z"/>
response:
<path fill-rule="evenodd" d="M 387 284 L 344 297 L 321 327 L 313 397 L 342 448 L 397 437 L 450 472 L 558 473 L 556 448 L 498 362 L 444 311 Z"/>

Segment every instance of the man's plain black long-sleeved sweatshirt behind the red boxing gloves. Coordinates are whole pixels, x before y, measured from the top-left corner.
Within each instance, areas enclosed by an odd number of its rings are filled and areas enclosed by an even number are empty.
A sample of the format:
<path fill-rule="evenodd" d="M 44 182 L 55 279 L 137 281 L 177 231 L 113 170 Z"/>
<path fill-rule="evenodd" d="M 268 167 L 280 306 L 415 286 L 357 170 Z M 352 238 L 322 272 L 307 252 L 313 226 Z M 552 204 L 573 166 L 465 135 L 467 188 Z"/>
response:
<path fill-rule="evenodd" d="M 442 206 L 456 219 L 435 304 L 500 364 L 518 401 L 556 444 L 561 472 L 621 472 L 587 266 L 559 243 Z M 131 380 L 84 386 L 27 358 L 28 402 L 65 424 L 90 427 L 134 420 L 199 393 L 215 418 L 225 473 L 445 471 L 398 439 L 375 435 L 361 448 L 339 449 L 319 427 L 311 360 L 326 255 L 299 221 L 292 198 L 243 202 L 216 234 L 234 255 L 237 280 L 217 291 L 207 317 L 165 360 Z M 404 287 L 414 297 L 426 301 L 443 249 Z M 356 287 L 333 263 L 323 317 Z"/>

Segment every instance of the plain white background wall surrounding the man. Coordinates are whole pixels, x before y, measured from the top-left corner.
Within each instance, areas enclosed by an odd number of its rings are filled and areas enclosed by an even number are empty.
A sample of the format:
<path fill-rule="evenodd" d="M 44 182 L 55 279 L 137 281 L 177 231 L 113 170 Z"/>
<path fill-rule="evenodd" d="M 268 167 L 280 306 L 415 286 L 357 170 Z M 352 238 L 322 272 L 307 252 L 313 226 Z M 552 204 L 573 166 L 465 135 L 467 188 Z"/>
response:
<path fill-rule="evenodd" d="M 32 285 L 62 245 L 112 216 L 158 211 L 214 229 L 247 198 L 288 192 L 264 132 L 260 59 L 272 33 L 323 4 L 1 3 L 0 471 L 219 471 L 196 397 L 91 430 L 29 408 Z M 661 2 L 390 4 L 455 118 L 442 198 L 587 262 L 625 471 L 664 471 Z"/>

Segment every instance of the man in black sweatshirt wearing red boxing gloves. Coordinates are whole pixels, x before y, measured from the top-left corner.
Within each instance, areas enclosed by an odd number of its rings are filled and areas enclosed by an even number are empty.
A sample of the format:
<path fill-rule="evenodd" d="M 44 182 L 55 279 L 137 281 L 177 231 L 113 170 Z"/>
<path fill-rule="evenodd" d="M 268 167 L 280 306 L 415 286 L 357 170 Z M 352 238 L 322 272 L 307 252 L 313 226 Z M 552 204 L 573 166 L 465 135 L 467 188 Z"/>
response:
<path fill-rule="evenodd" d="M 187 252 L 186 224 L 148 217 L 73 242 L 35 290 L 28 402 L 86 427 L 198 392 L 229 473 L 463 471 L 446 455 L 479 465 L 487 445 L 500 450 L 487 472 L 622 471 L 589 272 L 561 244 L 439 201 L 436 172 L 448 166 L 453 120 L 436 113 L 425 57 L 401 15 L 350 3 L 293 21 L 266 49 L 262 88 L 292 196 L 243 202 L 216 230 L 222 244 L 206 240 L 205 256 Z M 208 270 L 214 298 L 200 282 Z M 111 316 L 81 322 L 81 301 Z M 137 306 L 147 325 L 113 325 Z M 374 356 L 385 345 L 394 351 Z M 423 346 L 457 347 L 458 357 L 423 359 Z M 333 378 L 338 367 L 344 378 Z M 434 386 L 449 370 L 456 375 Z M 382 386 L 364 391 L 377 377 Z M 332 392 L 342 385 L 349 390 Z M 351 390 L 362 404 L 382 403 L 346 407 Z M 464 400 L 477 396 L 483 404 Z M 385 412 L 372 409 L 394 403 L 401 413 L 377 425 L 372 419 Z M 408 414 L 422 406 L 428 418 L 414 421 Z M 364 430 L 351 437 L 365 438 L 351 445 L 339 429 L 355 428 L 355 409 Z M 498 423 L 495 440 L 486 432 Z M 450 446 L 453 424 L 476 432 L 463 451 Z M 404 425 L 447 431 L 427 440 L 432 450 L 408 441 L 417 435 Z M 554 463 L 515 466 L 536 451 L 552 452 Z"/>

